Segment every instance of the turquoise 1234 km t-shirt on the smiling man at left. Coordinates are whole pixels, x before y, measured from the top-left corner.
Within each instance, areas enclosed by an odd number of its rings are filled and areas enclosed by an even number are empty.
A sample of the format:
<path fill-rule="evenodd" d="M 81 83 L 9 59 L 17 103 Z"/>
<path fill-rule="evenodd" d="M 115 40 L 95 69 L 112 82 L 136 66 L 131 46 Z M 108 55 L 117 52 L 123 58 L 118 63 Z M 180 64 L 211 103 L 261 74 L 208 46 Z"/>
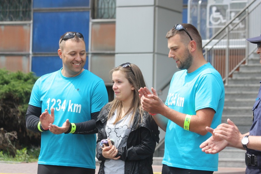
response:
<path fill-rule="evenodd" d="M 91 113 L 99 112 L 108 103 L 104 81 L 84 70 L 76 77 L 64 77 L 58 70 L 40 77 L 32 89 L 30 105 L 51 113 L 53 124 L 61 127 L 91 119 Z M 40 116 L 40 115 L 39 115 Z M 53 134 L 42 132 L 38 164 L 73 166 L 95 169 L 96 134 Z"/>

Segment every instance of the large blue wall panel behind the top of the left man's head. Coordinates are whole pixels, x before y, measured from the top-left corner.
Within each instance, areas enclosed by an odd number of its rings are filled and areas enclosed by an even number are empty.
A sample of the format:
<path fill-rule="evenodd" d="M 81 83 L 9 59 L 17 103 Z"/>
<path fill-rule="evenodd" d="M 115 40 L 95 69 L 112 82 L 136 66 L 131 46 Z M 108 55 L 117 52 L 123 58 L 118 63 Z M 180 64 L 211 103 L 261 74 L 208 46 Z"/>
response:
<path fill-rule="evenodd" d="M 65 32 L 81 32 L 86 51 L 89 48 L 89 11 L 81 12 L 34 12 L 32 52 L 57 52 L 59 38 Z"/>

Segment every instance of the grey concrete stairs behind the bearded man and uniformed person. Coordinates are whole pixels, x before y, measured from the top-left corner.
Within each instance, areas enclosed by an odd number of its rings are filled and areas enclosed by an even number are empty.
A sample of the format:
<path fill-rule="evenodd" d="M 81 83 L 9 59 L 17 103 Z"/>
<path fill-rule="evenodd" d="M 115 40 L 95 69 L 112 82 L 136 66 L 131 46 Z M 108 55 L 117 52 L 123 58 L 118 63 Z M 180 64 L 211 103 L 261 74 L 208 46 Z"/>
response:
<path fill-rule="evenodd" d="M 252 125 L 252 108 L 261 81 L 260 58 L 256 53 L 248 58 L 247 65 L 241 65 L 225 85 L 225 105 L 222 123 L 229 118 L 242 134 L 249 132 Z M 226 147 L 219 153 L 219 167 L 245 167 L 245 151 Z"/>

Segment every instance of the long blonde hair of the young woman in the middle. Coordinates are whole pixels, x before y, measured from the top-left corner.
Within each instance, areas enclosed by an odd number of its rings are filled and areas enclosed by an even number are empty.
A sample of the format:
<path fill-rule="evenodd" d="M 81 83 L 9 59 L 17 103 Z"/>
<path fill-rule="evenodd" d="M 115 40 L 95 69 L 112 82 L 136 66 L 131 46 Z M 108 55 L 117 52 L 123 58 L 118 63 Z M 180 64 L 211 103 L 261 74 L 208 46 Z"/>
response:
<path fill-rule="evenodd" d="M 118 66 L 116 68 L 113 68 L 110 71 L 110 74 L 112 75 L 112 73 L 115 71 L 122 72 L 123 74 L 125 74 L 125 77 L 128 79 L 129 83 L 131 85 L 133 85 L 133 87 L 134 87 L 132 104 L 131 104 L 129 110 L 125 113 L 126 115 L 128 115 L 130 112 L 133 111 L 131 118 L 130 118 L 130 123 L 133 123 L 137 109 L 138 109 L 139 115 L 140 115 L 139 122 L 142 121 L 142 115 L 143 115 L 144 111 L 141 107 L 138 90 L 141 87 L 144 88 L 146 86 L 146 82 L 143 78 L 142 72 L 139 69 L 139 67 L 135 64 L 130 64 L 130 66 L 131 66 L 131 69 L 129 66 L 127 66 L 127 67 Z M 122 101 L 115 98 L 114 100 L 109 102 L 109 105 L 111 106 L 111 110 L 108 114 L 108 119 L 110 119 L 114 115 L 114 112 L 117 110 L 117 117 L 115 119 L 115 122 L 113 123 L 113 124 L 116 124 L 120 120 L 120 116 L 122 114 L 122 108 L 123 108 Z"/>

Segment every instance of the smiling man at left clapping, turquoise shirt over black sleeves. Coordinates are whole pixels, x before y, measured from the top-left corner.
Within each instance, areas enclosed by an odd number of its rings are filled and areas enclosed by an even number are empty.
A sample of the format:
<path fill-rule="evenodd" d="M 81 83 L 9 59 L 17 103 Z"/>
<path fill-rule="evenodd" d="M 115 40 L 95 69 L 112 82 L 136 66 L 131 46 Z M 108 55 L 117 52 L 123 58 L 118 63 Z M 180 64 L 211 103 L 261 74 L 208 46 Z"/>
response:
<path fill-rule="evenodd" d="M 41 132 L 38 174 L 95 174 L 100 109 L 108 103 L 104 81 L 88 70 L 83 35 L 59 40 L 62 68 L 40 77 L 32 89 L 26 127 Z"/>

